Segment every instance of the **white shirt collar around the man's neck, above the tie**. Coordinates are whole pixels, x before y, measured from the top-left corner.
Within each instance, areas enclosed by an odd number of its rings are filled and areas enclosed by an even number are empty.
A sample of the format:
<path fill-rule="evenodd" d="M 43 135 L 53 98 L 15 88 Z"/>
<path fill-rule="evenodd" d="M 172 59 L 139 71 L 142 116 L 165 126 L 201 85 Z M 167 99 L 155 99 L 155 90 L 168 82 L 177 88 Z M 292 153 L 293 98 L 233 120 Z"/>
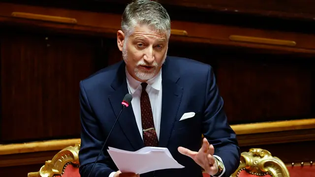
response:
<path fill-rule="evenodd" d="M 134 79 L 129 74 L 126 67 L 125 67 L 125 71 L 126 71 L 127 84 L 129 85 L 129 89 L 130 89 L 131 94 L 133 94 L 134 91 L 136 89 L 138 89 L 138 87 L 141 85 L 141 82 Z M 160 71 L 158 72 L 158 74 L 155 77 L 151 78 L 146 83 L 149 86 L 151 86 L 153 89 L 160 90 L 161 86 L 162 86 L 162 69 L 160 69 Z"/>

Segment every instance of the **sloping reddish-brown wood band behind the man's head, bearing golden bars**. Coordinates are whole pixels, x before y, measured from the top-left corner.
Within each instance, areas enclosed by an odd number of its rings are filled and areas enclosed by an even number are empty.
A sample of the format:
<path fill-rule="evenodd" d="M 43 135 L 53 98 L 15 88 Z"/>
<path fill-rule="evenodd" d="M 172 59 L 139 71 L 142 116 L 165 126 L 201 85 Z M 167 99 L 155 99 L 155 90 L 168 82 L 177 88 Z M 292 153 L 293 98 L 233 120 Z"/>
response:
<path fill-rule="evenodd" d="M 96 36 L 106 36 L 110 38 L 115 38 L 117 30 L 120 29 L 121 14 L 112 14 L 112 13 L 95 13 L 91 11 L 80 11 L 64 8 L 47 8 L 40 6 L 29 6 L 21 4 L 12 4 L 12 3 L 1 3 L 0 4 L 0 25 L 4 26 L 14 26 L 16 28 L 23 27 L 29 29 L 41 28 L 55 30 L 55 32 L 64 32 L 64 33 L 79 33 L 79 34 L 88 34 Z M 58 23 L 55 21 L 49 21 L 47 19 L 42 20 L 31 20 L 28 17 L 15 18 L 12 16 L 12 12 L 18 13 L 32 13 L 35 16 L 48 15 L 50 18 L 56 20 L 58 17 L 75 19 L 75 24 L 64 24 Z M 186 13 L 185 13 L 186 14 Z M 188 13 L 191 14 L 191 13 Z M 194 14 L 194 13 L 192 13 Z M 194 19 L 203 17 L 200 15 Z M 208 15 L 207 15 L 208 17 Z M 212 18 L 212 17 L 211 17 Z M 109 20 L 103 20 L 109 19 Z M 207 18 L 209 19 L 209 18 Z M 213 45 L 222 45 L 229 47 L 241 46 L 251 49 L 264 49 L 266 51 L 276 50 L 286 53 L 306 53 L 306 54 L 315 54 L 315 35 L 309 25 L 307 28 L 299 26 L 298 29 L 311 29 L 312 32 L 296 32 L 294 30 L 280 30 L 276 29 L 261 29 L 254 27 L 243 27 L 239 24 L 237 20 L 229 20 L 228 22 L 237 22 L 234 25 L 226 24 L 215 24 L 212 22 L 198 22 L 195 21 L 186 21 L 186 20 L 174 20 L 172 19 L 172 29 L 187 31 L 187 35 L 176 34 L 172 32 L 172 41 L 183 41 L 186 44 L 192 43 L 208 43 Z M 242 19 L 240 22 L 246 21 Z M 255 19 L 255 21 L 259 21 Z M 221 21 L 221 22 L 224 22 Z M 250 23 L 250 22 L 247 22 Z M 251 24 L 251 23 L 250 23 Z M 259 21 L 259 24 L 263 24 Z M 279 23 L 277 23 L 279 24 Z M 295 23 L 290 23 L 293 27 L 297 26 Z M 273 25 L 266 25 L 273 26 Z M 282 25 L 283 26 L 283 25 Z M 292 29 L 291 27 L 287 29 Z M 231 35 L 238 35 L 243 37 L 259 37 L 259 41 L 246 41 L 242 42 L 231 38 Z M 271 39 L 276 40 L 285 40 L 290 42 L 291 45 L 284 44 L 273 44 Z M 265 41 L 265 42 L 262 42 Z"/>

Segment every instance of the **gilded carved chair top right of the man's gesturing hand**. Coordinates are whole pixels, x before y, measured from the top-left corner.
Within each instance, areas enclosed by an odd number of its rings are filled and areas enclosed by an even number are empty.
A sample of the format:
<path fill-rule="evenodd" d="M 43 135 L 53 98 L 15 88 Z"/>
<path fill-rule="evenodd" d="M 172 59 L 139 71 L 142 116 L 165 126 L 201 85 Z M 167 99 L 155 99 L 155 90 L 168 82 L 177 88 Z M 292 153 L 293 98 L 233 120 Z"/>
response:
<path fill-rule="evenodd" d="M 261 148 L 251 148 L 249 152 L 242 152 L 241 163 L 230 177 L 238 177 L 243 170 L 256 176 L 290 177 L 284 162 Z"/>

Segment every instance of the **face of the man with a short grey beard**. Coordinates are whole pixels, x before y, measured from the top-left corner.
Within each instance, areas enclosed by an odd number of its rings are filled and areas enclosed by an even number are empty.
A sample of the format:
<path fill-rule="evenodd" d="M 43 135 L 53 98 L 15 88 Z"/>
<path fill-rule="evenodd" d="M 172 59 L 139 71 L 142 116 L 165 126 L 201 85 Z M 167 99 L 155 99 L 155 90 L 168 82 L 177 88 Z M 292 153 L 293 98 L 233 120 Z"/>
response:
<path fill-rule="evenodd" d="M 156 76 L 166 58 L 168 48 L 166 34 L 158 33 L 147 26 L 136 26 L 128 38 L 122 38 L 119 33 L 120 31 L 117 36 L 118 46 L 123 52 L 130 75 L 141 82 Z M 119 38 L 123 39 L 121 43 Z"/>

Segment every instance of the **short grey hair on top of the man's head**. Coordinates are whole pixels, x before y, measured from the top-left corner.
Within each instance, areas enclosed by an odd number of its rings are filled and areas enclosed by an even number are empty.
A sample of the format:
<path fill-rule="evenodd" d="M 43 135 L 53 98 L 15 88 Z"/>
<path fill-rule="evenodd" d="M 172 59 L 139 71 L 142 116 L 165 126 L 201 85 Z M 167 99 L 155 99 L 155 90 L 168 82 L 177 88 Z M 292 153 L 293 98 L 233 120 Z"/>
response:
<path fill-rule="evenodd" d="M 169 39 L 171 33 L 170 17 L 166 9 L 152 0 L 133 0 L 125 8 L 122 17 L 122 30 L 128 37 L 135 25 L 148 25 L 159 33 L 166 33 Z"/>

